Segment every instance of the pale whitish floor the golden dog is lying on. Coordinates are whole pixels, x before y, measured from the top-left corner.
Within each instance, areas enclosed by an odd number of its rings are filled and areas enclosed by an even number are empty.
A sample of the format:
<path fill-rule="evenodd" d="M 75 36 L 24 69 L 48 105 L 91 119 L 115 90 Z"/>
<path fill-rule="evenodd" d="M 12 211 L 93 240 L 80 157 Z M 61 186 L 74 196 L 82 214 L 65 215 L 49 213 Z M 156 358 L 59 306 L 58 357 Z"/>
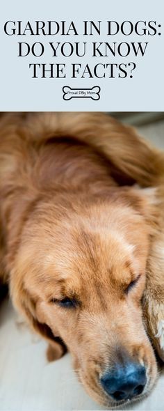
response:
<path fill-rule="evenodd" d="M 139 131 L 164 148 L 164 122 Z M 48 364 L 44 341 L 17 324 L 8 300 L 0 307 L 0 411 L 104 410 L 85 394 L 65 355 Z M 164 367 L 151 395 L 124 410 L 164 410 Z"/>

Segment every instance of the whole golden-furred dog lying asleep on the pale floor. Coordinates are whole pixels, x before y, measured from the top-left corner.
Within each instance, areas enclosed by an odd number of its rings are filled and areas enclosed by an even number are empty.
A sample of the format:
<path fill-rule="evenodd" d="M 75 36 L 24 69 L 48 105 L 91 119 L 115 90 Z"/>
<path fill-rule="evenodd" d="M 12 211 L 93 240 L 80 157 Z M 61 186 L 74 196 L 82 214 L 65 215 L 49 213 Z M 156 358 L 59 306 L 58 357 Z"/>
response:
<path fill-rule="evenodd" d="M 163 358 L 163 158 L 105 114 L 1 117 L 1 282 L 106 407 L 148 394 Z"/>

